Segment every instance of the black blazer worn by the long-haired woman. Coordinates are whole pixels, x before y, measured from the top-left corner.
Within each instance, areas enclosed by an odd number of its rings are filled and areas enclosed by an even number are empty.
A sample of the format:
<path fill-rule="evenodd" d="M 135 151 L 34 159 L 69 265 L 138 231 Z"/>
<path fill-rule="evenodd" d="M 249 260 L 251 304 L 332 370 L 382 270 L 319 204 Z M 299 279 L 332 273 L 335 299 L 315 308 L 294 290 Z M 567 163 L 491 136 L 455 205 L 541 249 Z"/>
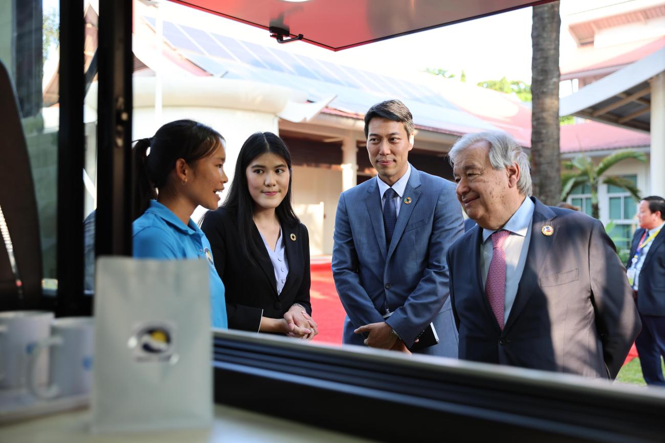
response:
<path fill-rule="evenodd" d="M 203 217 L 201 230 L 210 242 L 215 268 L 224 282 L 229 329 L 258 331 L 262 315 L 282 318 L 295 303 L 312 313 L 307 228 L 302 223 L 281 227 L 289 275 L 278 296 L 275 270 L 256 225 L 251 224 L 251 239 L 261 252 L 258 266 L 250 264 L 241 252 L 235 212 L 221 207 Z"/>

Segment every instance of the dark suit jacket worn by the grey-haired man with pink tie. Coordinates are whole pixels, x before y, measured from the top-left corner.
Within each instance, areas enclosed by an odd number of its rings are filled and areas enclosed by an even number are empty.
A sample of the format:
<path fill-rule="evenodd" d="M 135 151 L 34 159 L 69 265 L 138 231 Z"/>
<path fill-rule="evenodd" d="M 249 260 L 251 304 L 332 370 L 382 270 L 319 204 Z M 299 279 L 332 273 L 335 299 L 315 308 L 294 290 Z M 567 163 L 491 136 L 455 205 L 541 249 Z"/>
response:
<path fill-rule="evenodd" d="M 600 221 L 531 199 L 527 262 L 503 331 L 483 290 L 481 228 L 448 250 L 460 359 L 614 379 L 641 328 L 614 244 Z"/>

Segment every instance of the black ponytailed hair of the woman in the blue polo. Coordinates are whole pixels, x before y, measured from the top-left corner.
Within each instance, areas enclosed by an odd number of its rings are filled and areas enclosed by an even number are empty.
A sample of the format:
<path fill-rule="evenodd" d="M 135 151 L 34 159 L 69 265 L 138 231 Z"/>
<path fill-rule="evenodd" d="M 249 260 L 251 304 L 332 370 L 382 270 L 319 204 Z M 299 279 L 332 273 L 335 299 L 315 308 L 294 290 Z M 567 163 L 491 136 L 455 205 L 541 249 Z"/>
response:
<path fill-rule="evenodd" d="M 194 120 L 176 120 L 158 129 L 152 137 L 134 145 L 134 202 L 132 220 L 138 219 L 157 198 L 157 190 L 168 189 L 168 177 L 178 159 L 192 165 L 207 157 L 224 140 L 209 126 Z M 150 153 L 148 153 L 150 148 Z"/>

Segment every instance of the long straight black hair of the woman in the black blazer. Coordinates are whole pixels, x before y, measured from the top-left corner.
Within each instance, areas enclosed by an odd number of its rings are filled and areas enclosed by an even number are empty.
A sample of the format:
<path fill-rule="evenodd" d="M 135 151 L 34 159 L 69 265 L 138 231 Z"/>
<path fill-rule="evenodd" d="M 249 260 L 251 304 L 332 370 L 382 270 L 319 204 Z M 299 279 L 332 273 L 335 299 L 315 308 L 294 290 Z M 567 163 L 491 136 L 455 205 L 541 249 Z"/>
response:
<path fill-rule="evenodd" d="M 240 244 L 243 249 L 243 255 L 250 261 L 255 262 L 255 258 L 261 257 L 259 254 L 258 245 L 251 240 L 251 229 L 254 226 L 254 199 L 249 194 L 249 185 L 247 185 L 247 175 L 245 171 L 254 159 L 265 153 L 273 153 L 278 157 L 284 159 L 289 168 L 289 190 L 284 199 L 279 203 L 275 209 L 275 215 L 280 224 L 294 227 L 300 223 L 298 216 L 293 211 L 291 205 L 291 183 L 292 183 L 292 168 L 291 168 L 291 153 L 286 143 L 272 132 L 256 132 L 249 136 L 243 146 L 240 148 L 237 162 L 235 163 L 235 173 L 233 174 L 233 181 L 229 188 L 229 193 L 226 196 L 223 207 L 233 211 L 237 217 L 238 233 Z M 284 233 L 282 232 L 282 235 Z"/>

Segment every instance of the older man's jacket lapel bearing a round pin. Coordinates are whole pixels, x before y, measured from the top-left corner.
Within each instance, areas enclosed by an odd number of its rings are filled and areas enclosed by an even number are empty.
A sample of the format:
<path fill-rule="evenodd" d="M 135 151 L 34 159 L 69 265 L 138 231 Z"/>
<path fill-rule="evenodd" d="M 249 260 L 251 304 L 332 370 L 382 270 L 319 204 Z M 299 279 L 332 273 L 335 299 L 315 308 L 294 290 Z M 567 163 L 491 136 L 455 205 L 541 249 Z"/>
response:
<path fill-rule="evenodd" d="M 554 211 L 543 205 L 543 203 L 540 203 L 535 197 L 532 199 L 533 203 L 535 203 L 535 209 L 533 211 L 533 220 L 531 221 L 531 240 L 529 242 L 529 250 L 527 251 L 527 261 L 524 264 L 522 277 L 519 280 L 519 286 L 517 286 L 515 302 L 513 302 L 513 307 L 508 315 L 504 330 L 507 330 L 515 323 L 515 319 L 519 316 L 524 306 L 526 306 L 529 297 L 535 292 L 541 269 L 543 268 L 543 264 L 545 264 L 545 258 L 547 258 L 547 254 L 549 254 L 559 234 L 557 223 L 553 221 L 557 217 Z M 541 232 L 543 226 L 548 224 L 554 230 L 551 236 L 547 236 Z"/>

